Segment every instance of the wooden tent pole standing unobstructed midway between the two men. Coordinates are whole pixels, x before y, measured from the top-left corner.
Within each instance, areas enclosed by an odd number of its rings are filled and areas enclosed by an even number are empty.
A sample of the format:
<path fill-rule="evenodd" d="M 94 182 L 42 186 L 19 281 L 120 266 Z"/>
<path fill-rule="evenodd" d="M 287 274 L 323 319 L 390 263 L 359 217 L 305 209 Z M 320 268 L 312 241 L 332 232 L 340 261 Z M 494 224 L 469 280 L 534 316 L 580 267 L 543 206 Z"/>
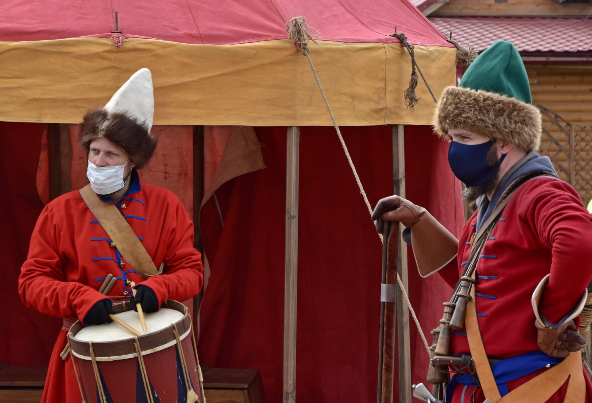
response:
<path fill-rule="evenodd" d="M 298 291 L 298 158 L 300 128 L 288 127 L 284 274 L 284 403 L 296 401 L 296 303 Z"/>

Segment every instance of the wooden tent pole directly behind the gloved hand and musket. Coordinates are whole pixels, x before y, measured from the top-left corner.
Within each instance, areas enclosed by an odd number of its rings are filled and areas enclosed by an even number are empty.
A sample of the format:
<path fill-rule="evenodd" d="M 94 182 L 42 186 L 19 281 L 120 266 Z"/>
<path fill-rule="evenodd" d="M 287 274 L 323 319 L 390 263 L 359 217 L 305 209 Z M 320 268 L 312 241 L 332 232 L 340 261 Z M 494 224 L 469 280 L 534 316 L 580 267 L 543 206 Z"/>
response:
<path fill-rule="evenodd" d="M 393 194 L 405 197 L 405 138 L 402 124 L 392 127 L 392 181 Z M 401 224 L 400 224 L 401 225 Z M 401 228 L 402 230 L 403 228 Z M 407 275 L 407 244 L 402 238 L 398 241 L 397 273 L 406 290 Z M 399 401 L 411 401 L 411 354 L 409 341 L 409 309 L 403 298 L 403 292 L 397 287 L 397 347 L 398 347 L 398 385 Z"/>

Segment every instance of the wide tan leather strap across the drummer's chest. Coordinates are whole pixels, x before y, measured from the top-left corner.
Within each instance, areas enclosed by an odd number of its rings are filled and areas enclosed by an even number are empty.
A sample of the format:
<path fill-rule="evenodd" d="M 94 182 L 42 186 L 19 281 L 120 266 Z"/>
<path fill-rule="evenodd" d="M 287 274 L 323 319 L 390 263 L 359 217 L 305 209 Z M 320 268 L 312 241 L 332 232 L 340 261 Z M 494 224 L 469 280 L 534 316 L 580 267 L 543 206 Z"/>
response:
<path fill-rule="evenodd" d="M 115 247 L 130 265 L 146 279 L 158 274 L 158 270 L 148 252 L 140 242 L 130 224 L 123 218 L 117 207 L 102 202 L 91 189 L 90 183 L 80 189 L 82 199 L 99 221 Z"/>

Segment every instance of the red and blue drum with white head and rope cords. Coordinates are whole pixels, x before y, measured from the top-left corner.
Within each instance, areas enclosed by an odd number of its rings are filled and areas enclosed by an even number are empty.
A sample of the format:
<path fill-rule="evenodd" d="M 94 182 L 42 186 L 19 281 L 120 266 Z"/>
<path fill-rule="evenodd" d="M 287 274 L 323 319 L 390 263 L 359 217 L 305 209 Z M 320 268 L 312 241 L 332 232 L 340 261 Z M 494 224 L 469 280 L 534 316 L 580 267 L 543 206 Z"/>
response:
<path fill-rule="evenodd" d="M 130 304 L 113 309 L 115 316 L 141 332 Z M 144 317 L 148 333 L 142 336 L 115 322 L 72 325 L 68 340 L 82 401 L 204 403 L 189 309 L 167 300 L 159 311 Z"/>

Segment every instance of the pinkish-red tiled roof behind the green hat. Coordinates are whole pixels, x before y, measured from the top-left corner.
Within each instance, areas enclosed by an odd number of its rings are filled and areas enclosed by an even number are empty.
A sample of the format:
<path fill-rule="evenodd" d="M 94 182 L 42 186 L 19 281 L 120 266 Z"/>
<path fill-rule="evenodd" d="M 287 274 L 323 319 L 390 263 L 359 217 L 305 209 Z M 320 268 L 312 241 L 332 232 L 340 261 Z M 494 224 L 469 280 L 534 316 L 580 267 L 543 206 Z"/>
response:
<path fill-rule="evenodd" d="M 481 51 L 507 40 L 520 52 L 592 50 L 592 20 L 555 17 L 431 17 L 446 37 Z"/>

